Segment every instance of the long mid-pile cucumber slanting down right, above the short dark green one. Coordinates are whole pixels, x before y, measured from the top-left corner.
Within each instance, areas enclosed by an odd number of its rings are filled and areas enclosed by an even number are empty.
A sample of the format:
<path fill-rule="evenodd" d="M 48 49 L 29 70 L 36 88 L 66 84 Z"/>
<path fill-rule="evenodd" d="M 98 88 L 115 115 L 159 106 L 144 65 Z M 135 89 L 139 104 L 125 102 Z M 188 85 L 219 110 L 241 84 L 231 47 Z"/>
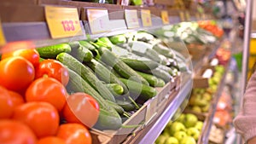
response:
<path fill-rule="evenodd" d="M 113 69 L 116 72 L 118 72 L 119 75 L 123 78 L 132 77 L 136 79 L 138 82 L 142 82 L 143 84 L 149 85 L 146 79 L 137 74 L 137 72 L 135 72 L 130 66 L 126 65 L 125 62 L 119 60 L 119 58 L 107 48 L 101 47 L 99 48 L 99 52 L 102 55 L 101 60 L 108 66 L 112 66 Z"/>

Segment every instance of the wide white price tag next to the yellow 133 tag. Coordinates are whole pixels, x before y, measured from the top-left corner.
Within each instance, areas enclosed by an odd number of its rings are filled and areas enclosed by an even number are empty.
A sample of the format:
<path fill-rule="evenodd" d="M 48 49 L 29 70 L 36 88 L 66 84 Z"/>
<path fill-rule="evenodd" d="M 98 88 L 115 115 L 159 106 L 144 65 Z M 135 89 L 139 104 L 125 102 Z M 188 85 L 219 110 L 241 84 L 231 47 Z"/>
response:
<path fill-rule="evenodd" d="M 107 9 L 87 9 L 87 18 L 92 34 L 110 32 Z"/>

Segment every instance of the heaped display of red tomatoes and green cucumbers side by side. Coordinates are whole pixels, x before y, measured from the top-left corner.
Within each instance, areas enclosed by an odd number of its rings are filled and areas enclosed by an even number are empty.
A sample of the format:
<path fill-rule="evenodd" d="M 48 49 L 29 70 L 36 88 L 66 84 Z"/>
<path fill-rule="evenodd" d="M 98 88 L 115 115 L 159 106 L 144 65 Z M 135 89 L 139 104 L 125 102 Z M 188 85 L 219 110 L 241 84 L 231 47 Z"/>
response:
<path fill-rule="evenodd" d="M 172 52 L 133 32 L 2 54 L 0 132 L 9 135 L 0 143 L 92 143 L 91 128 L 118 130 L 156 87 L 187 71 Z"/>

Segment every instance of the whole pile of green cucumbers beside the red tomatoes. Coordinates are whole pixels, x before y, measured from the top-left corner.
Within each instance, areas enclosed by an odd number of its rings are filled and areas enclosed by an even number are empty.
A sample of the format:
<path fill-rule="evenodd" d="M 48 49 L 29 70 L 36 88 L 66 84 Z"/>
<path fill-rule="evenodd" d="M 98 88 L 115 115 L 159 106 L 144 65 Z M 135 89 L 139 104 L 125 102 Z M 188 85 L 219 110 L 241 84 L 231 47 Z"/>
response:
<path fill-rule="evenodd" d="M 118 130 L 131 112 L 143 105 L 138 101 L 154 97 L 155 87 L 165 86 L 180 74 L 180 62 L 172 49 L 153 44 L 156 38 L 150 36 L 139 32 L 37 50 L 41 58 L 59 60 L 67 66 L 69 93 L 84 92 L 96 99 L 100 106 L 96 129 Z M 182 56 L 178 57 L 183 61 Z"/>

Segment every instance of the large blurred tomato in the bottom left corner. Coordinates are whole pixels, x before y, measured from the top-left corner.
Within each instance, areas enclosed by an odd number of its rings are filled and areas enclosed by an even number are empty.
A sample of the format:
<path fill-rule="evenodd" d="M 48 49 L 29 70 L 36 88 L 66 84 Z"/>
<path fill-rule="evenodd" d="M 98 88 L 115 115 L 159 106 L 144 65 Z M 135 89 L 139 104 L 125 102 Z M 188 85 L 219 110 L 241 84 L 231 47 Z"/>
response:
<path fill-rule="evenodd" d="M 10 119 L 0 120 L 0 143 L 35 144 L 36 141 L 36 135 L 26 124 Z"/>

